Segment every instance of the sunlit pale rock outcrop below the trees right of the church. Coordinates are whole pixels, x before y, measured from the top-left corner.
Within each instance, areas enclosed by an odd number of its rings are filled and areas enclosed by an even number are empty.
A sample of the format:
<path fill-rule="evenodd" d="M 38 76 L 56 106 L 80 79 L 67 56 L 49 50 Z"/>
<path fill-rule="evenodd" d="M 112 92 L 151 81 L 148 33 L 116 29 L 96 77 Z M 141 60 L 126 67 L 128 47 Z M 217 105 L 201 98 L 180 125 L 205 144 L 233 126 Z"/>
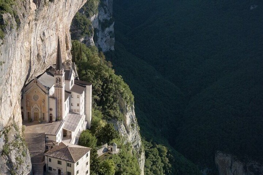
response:
<path fill-rule="evenodd" d="M 120 109 L 124 116 L 124 121 L 115 121 L 115 128 L 126 138 L 127 142 L 131 142 L 136 152 L 136 157 L 140 165 L 141 175 L 144 174 L 145 151 L 142 146 L 139 126 L 136 120 L 134 105 L 128 106 L 122 99 L 119 100 Z"/>

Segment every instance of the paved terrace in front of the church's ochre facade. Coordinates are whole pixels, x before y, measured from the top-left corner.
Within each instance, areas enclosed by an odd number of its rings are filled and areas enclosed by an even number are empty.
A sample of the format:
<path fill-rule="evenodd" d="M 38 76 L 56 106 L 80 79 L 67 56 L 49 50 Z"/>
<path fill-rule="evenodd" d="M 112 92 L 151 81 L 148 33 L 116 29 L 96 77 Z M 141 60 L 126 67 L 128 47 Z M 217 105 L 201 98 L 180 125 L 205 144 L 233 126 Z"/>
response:
<path fill-rule="evenodd" d="M 23 121 L 22 124 L 25 125 L 24 133 L 45 133 L 47 135 L 56 135 L 63 122 L 64 120 L 54 121 L 52 123 L 42 121 L 40 124 L 38 124 L 38 121 L 32 121 L 31 123 L 28 121 Z"/>

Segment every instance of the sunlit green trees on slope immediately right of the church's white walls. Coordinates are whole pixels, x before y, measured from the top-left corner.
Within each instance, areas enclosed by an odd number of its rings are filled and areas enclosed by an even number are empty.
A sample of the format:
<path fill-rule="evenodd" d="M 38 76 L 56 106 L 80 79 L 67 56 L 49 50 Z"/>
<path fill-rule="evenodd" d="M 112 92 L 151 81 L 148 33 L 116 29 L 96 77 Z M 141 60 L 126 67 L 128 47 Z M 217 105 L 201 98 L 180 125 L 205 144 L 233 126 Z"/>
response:
<path fill-rule="evenodd" d="M 101 111 L 103 119 L 122 119 L 119 112 L 120 97 L 129 105 L 133 104 L 133 95 L 129 86 L 121 76 L 117 76 L 111 68 L 111 63 L 98 52 L 95 46 L 87 47 L 82 44 L 82 57 L 80 43 L 72 41 L 72 55 L 78 67 L 81 80 L 92 83 L 92 106 Z"/>

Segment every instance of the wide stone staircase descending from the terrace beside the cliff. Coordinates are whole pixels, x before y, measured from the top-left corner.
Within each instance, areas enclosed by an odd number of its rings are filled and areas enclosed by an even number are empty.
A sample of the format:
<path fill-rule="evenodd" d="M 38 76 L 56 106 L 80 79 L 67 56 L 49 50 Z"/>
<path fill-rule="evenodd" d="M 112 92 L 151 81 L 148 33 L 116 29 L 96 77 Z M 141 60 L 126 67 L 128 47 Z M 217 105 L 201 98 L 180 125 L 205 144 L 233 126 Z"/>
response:
<path fill-rule="evenodd" d="M 45 133 L 27 133 L 24 138 L 30 153 L 33 175 L 43 175 Z"/>

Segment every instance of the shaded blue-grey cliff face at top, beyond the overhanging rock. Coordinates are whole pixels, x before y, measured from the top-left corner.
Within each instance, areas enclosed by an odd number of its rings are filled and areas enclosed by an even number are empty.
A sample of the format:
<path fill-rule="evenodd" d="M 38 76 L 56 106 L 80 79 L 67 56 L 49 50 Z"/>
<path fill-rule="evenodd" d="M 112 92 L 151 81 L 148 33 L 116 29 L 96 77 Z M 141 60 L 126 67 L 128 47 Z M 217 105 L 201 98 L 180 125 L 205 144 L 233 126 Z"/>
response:
<path fill-rule="evenodd" d="M 91 17 L 94 28 L 95 45 L 103 52 L 114 50 L 114 21 L 112 19 L 113 0 L 102 0 L 98 8 L 98 14 Z M 92 43 L 92 42 L 91 42 Z"/>

